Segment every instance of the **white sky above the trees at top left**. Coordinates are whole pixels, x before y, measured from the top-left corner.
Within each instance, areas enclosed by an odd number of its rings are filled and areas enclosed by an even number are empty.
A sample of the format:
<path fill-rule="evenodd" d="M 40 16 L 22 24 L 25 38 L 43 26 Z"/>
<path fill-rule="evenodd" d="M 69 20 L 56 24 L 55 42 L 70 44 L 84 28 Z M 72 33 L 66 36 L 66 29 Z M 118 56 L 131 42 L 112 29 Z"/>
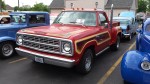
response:
<path fill-rule="evenodd" d="M 15 7 L 18 6 L 18 0 L 3 0 L 6 4 Z M 33 6 L 35 3 L 44 3 L 45 5 L 50 5 L 52 0 L 20 0 L 20 6 L 30 5 Z"/>

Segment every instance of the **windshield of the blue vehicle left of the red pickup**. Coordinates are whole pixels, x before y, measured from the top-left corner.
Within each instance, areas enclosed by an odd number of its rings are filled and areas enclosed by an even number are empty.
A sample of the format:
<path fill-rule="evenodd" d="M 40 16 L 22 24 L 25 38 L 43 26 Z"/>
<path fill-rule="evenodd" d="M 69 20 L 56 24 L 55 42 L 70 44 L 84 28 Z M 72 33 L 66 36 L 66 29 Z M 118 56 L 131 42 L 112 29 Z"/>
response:
<path fill-rule="evenodd" d="M 26 23 L 25 15 L 12 15 L 11 22 L 12 23 Z"/>

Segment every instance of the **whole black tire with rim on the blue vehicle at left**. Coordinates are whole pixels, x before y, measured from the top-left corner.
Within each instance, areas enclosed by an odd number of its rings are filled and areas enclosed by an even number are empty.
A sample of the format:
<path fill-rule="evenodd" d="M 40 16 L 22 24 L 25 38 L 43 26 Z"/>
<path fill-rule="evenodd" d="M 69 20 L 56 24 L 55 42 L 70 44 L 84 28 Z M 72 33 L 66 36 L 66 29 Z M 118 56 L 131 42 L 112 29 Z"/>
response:
<path fill-rule="evenodd" d="M 2 42 L 0 43 L 0 57 L 9 58 L 15 53 L 15 43 L 13 42 Z"/>

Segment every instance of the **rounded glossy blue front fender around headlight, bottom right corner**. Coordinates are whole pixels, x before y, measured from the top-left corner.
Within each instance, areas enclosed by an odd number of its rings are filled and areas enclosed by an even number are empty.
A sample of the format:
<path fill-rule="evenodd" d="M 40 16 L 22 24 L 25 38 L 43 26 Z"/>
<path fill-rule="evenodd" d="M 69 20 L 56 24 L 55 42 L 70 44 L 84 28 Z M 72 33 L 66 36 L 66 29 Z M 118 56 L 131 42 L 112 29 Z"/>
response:
<path fill-rule="evenodd" d="M 150 84 L 150 72 L 141 68 L 143 60 L 149 60 L 149 54 L 139 51 L 127 52 L 121 62 L 122 78 L 135 84 Z"/>

